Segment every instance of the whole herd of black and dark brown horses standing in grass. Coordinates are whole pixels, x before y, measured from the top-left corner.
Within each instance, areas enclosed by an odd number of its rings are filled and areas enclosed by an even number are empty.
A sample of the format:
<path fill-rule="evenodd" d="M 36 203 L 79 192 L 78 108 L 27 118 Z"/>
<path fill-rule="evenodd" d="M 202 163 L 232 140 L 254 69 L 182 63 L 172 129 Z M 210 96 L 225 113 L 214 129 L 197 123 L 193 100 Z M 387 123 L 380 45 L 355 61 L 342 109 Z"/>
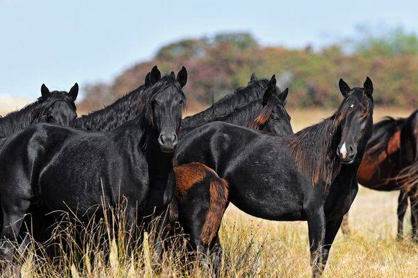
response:
<path fill-rule="evenodd" d="M 155 66 L 144 85 L 78 118 L 77 83 L 69 92 L 42 85 L 38 101 L 0 118 L 1 258 L 13 261 L 28 233 L 42 241 L 52 211 L 88 221 L 123 198 L 129 231 L 158 220 L 156 254 L 181 227 L 217 272 L 218 230 L 232 202 L 259 218 L 307 221 L 319 277 L 357 181 L 401 191 L 399 234 L 409 198 L 418 238 L 418 112 L 373 126 L 369 78 L 353 88 L 340 79 L 335 113 L 297 133 L 275 76 L 252 74 L 246 87 L 182 119 L 187 78 L 184 67 L 161 76 Z"/>

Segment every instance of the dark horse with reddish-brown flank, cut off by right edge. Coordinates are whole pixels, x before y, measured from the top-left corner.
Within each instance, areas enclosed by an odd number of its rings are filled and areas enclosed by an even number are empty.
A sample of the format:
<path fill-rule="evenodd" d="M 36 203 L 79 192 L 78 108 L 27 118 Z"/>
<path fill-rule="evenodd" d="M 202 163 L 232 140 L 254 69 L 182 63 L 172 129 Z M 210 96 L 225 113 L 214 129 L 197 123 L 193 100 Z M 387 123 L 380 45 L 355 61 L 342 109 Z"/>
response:
<path fill-rule="evenodd" d="M 378 191 L 399 190 L 397 236 L 403 236 L 403 218 L 411 203 L 412 238 L 418 240 L 417 190 L 417 134 L 418 110 L 408 118 L 387 117 L 373 125 L 373 135 L 367 144 L 357 172 L 362 186 Z M 344 218 L 348 226 L 348 219 Z"/>

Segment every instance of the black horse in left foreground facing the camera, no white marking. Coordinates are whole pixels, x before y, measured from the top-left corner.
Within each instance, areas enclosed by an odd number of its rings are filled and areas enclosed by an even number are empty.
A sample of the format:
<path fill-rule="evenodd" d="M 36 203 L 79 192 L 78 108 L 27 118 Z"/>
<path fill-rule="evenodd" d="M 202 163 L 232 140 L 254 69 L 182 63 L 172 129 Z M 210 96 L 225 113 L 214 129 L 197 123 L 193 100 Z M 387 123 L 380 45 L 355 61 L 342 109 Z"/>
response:
<path fill-rule="evenodd" d="M 142 112 L 111 132 L 38 123 L 6 141 L 0 151 L 3 258 L 13 255 L 8 240 L 19 240 L 31 207 L 70 209 L 86 219 L 101 211 L 102 198 L 111 207 L 124 198 L 127 224 L 134 227 L 137 206 L 145 204 L 152 183 L 151 157 L 172 152 L 177 144 L 187 71 L 151 80 L 140 97 Z"/>

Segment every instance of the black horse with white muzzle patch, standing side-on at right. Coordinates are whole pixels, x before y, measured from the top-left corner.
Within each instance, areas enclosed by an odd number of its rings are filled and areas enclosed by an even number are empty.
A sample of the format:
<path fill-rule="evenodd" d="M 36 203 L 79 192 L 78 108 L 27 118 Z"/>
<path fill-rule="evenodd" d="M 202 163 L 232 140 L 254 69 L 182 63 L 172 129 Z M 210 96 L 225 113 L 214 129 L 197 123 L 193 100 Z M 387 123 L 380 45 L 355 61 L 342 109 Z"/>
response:
<path fill-rule="evenodd" d="M 173 158 L 174 166 L 199 163 L 227 182 L 229 196 L 218 191 L 214 201 L 230 200 L 268 220 L 307 220 L 314 277 L 357 194 L 357 168 L 373 128 L 371 80 L 353 89 L 340 80 L 340 89 L 344 101 L 337 112 L 296 134 L 209 123 L 187 134 Z M 184 177 L 187 188 L 210 174 L 196 170 Z"/>

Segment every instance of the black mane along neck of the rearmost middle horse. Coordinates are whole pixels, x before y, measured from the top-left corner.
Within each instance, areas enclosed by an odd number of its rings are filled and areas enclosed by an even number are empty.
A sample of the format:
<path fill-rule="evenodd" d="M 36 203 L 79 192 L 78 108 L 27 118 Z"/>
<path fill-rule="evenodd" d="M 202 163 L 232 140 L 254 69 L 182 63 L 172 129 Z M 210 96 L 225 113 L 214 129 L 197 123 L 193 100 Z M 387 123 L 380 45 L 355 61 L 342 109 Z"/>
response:
<path fill-rule="evenodd" d="M 241 107 L 250 101 L 262 98 L 267 85 L 267 79 L 251 80 L 246 87 L 235 89 L 233 94 L 224 96 L 207 110 L 184 118 L 182 121 L 182 128 L 194 129 L 204 123 L 215 121 L 215 119 L 218 119 L 220 116 L 231 114 L 236 107 Z"/>

